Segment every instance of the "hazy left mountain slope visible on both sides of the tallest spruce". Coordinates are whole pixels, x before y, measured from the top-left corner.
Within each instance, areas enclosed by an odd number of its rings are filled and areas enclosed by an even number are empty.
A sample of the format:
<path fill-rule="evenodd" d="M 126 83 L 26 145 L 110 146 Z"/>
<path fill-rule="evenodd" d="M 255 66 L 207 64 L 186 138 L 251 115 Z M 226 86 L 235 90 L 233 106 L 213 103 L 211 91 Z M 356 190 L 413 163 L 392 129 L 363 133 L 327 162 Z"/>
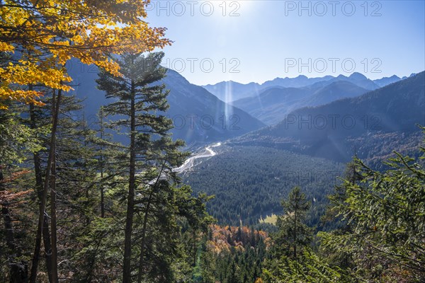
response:
<path fill-rule="evenodd" d="M 102 105 L 110 103 L 105 93 L 96 88 L 97 70 L 77 61 L 72 61 L 69 75 L 73 79 L 72 94 L 83 99 L 84 116 L 94 125 Z M 171 130 L 174 139 L 183 139 L 187 144 L 212 142 L 240 136 L 264 127 L 263 122 L 248 113 L 218 99 L 200 86 L 189 83 L 176 71 L 168 70 L 161 83 L 170 90 L 166 112 L 174 122 Z M 82 115 L 82 113 L 81 113 Z M 125 142 L 125 137 L 116 136 Z"/>

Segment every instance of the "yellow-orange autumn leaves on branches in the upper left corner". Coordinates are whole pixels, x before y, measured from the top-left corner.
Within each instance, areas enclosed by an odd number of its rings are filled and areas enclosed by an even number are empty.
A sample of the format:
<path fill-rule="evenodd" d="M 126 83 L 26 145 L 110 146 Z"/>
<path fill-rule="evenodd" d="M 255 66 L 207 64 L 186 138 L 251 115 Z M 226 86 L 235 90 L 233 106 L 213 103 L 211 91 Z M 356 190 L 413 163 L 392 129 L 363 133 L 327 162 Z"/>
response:
<path fill-rule="evenodd" d="M 164 28 L 143 21 L 147 0 L 4 0 L 0 3 L 0 108 L 7 100 L 38 103 L 28 85 L 69 91 L 64 64 L 77 58 L 120 76 L 111 54 L 169 45 Z M 2 56 L 4 57 L 4 56 Z M 5 61 L 5 60 L 2 60 Z"/>

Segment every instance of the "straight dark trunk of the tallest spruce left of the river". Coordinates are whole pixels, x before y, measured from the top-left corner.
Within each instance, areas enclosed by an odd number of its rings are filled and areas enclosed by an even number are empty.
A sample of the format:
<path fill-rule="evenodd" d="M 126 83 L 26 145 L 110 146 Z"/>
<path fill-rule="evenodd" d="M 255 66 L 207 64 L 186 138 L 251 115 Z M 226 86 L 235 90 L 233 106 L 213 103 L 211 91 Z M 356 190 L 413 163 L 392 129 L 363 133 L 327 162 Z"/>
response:
<path fill-rule="evenodd" d="M 123 262 L 123 283 L 131 282 L 131 236 L 134 216 L 135 202 L 135 136 L 136 136 L 136 114 L 135 114 L 135 82 L 131 82 L 131 108 L 130 108 L 130 175 L 128 176 L 128 202 L 127 216 L 125 219 L 125 240 L 124 240 L 124 262 Z"/>

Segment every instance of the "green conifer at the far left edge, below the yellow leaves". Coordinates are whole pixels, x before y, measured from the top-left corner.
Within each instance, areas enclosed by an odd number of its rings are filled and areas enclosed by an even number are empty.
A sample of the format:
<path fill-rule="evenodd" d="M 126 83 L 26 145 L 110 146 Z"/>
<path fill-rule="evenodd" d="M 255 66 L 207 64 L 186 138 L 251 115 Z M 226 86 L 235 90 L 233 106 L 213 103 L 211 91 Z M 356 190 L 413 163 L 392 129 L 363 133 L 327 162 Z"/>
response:
<path fill-rule="evenodd" d="M 26 154 L 40 150 L 40 143 L 34 136 L 32 129 L 21 124 L 16 112 L 0 110 L 0 213 L 4 221 L 4 229 L 0 229 L 0 258 L 8 265 L 8 271 L 1 266 L 0 272 L 3 279 L 16 283 L 28 282 L 29 264 L 23 245 L 28 233 L 16 231 L 16 226 L 22 228 L 26 224 L 16 217 L 13 211 L 16 205 L 13 204 L 23 202 L 29 191 L 16 185 L 14 180 L 28 173 L 27 168 L 18 168 Z"/>

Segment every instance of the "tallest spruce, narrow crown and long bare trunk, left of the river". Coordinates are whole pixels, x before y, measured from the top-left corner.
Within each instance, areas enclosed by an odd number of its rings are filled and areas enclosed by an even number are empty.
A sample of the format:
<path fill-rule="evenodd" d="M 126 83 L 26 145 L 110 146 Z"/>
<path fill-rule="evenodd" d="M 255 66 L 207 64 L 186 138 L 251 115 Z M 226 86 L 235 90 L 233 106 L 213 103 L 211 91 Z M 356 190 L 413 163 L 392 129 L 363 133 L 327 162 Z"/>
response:
<path fill-rule="evenodd" d="M 115 102 L 104 108 L 106 115 L 115 116 L 109 127 L 128 137 L 128 144 L 123 147 L 123 156 L 117 161 L 123 168 L 128 168 L 128 172 L 123 171 L 121 176 L 128 184 L 125 197 L 123 282 L 132 280 L 135 213 L 142 212 L 143 215 L 139 262 L 139 265 L 143 265 L 144 248 L 149 245 L 145 236 L 146 226 L 149 210 L 154 209 L 154 196 L 171 190 L 164 180 L 176 178 L 171 168 L 181 163 L 186 156 L 177 151 L 183 145 L 182 141 L 171 141 L 169 138 L 168 131 L 172 123 L 164 115 L 169 107 L 166 103 L 169 91 L 165 91 L 164 84 L 156 83 L 166 74 L 166 69 L 159 65 L 163 57 L 163 52 L 150 53 L 146 57 L 143 54 L 123 54 L 116 60 L 123 76 L 101 71 L 97 80 L 98 88 L 106 92 L 106 97 L 115 99 Z M 139 270 L 139 274 L 141 272 Z"/>

